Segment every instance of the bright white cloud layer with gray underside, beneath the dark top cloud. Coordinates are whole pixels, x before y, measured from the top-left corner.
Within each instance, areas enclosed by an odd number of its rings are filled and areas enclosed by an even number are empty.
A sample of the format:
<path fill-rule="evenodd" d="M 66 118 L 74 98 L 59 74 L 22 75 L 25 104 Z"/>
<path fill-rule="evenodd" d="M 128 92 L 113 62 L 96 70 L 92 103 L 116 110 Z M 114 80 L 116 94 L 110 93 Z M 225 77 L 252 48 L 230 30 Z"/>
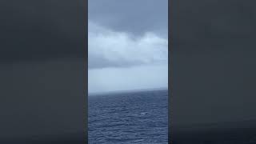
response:
<path fill-rule="evenodd" d="M 136 37 L 89 22 L 89 68 L 166 63 L 168 40 L 152 32 Z"/>

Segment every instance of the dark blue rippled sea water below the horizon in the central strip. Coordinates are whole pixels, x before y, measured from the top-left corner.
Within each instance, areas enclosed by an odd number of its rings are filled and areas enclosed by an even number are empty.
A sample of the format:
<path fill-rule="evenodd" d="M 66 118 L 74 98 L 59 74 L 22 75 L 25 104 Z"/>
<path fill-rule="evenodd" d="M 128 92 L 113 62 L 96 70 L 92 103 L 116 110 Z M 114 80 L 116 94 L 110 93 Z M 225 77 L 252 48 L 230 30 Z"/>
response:
<path fill-rule="evenodd" d="M 89 96 L 89 143 L 168 143 L 168 91 Z"/>

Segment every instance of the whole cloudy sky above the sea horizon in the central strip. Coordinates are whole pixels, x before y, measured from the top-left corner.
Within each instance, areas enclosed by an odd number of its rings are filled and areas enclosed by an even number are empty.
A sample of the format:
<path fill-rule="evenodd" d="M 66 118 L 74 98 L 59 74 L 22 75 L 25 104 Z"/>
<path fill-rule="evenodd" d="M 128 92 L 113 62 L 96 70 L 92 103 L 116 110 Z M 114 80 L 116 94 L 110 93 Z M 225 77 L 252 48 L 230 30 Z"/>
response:
<path fill-rule="evenodd" d="M 89 0 L 89 93 L 167 88 L 167 0 Z"/>

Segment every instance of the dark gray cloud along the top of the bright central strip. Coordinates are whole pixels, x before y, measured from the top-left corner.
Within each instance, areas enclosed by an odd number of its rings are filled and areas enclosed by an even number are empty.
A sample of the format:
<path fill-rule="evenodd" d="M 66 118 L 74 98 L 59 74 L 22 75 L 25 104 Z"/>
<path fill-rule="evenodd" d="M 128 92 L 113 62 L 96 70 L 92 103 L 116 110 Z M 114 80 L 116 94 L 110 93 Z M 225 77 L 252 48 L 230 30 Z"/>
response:
<path fill-rule="evenodd" d="M 90 0 L 89 19 L 136 36 L 152 31 L 166 37 L 168 0 Z"/>

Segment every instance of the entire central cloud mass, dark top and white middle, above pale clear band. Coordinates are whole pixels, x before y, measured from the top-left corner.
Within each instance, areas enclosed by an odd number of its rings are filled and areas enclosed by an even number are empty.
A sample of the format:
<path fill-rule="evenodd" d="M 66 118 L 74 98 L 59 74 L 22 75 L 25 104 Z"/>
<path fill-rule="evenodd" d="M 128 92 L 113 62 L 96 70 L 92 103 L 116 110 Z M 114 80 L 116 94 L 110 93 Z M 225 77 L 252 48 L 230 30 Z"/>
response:
<path fill-rule="evenodd" d="M 167 62 L 167 0 L 89 2 L 89 68 Z"/>

